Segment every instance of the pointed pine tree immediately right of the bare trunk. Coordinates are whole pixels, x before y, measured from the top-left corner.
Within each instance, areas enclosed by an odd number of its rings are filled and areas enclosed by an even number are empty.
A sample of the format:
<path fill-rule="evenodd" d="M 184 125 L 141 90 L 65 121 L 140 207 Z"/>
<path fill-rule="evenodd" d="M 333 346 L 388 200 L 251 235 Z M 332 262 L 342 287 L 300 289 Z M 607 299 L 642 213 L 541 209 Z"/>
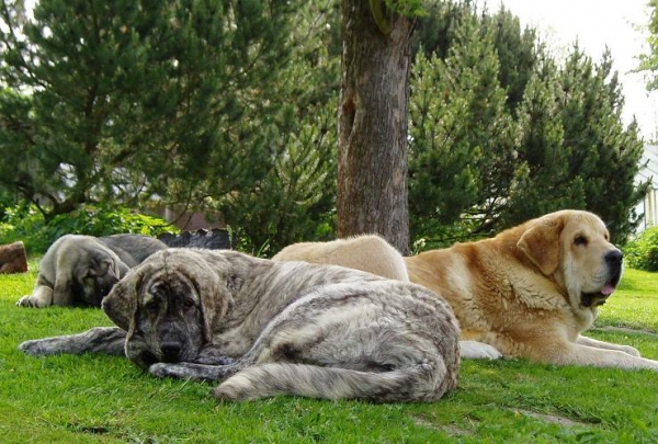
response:
<path fill-rule="evenodd" d="M 412 232 L 461 221 L 486 231 L 500 217 L 515 174 L 513 122 L 498 82 L 490 34 L 468 12 L 445 60 L 417 55 L 412 77 Z"/>

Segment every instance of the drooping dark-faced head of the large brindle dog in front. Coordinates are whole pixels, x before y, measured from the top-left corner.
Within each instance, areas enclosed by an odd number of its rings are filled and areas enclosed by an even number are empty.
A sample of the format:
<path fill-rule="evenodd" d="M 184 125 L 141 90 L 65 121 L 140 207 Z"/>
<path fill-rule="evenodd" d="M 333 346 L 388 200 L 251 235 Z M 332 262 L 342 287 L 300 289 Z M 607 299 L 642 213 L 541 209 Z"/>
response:
<path fill-rule="evenodd" d="M 201 251 L 160 251 L 133 269 L 103 299 L 103 310 L 128 332 L 126 355 L 143 368 L 194 362 L 212 342 L 213 325 L 232 297 L 227 266 Z"/>

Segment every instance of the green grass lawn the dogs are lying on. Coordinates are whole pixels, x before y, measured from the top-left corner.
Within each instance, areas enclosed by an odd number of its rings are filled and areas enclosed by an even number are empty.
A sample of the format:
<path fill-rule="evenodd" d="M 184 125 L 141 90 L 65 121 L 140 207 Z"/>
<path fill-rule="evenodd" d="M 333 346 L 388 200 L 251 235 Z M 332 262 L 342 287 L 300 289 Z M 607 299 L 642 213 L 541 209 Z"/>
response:
<path fill-rule="evenodd" d="M 156 379 L 126 358 L 26 356 L 24 340 L 111 325 L 99 309 L 15 307 L 35 277 L 0 276 L 2 443 L 658 442 L 649 371 L 465 361 L 460 388 L 434 403 L 219 403 L 209 384 Z M 658 275 L 627 270 L 588 334 L 658 360 Z"/>

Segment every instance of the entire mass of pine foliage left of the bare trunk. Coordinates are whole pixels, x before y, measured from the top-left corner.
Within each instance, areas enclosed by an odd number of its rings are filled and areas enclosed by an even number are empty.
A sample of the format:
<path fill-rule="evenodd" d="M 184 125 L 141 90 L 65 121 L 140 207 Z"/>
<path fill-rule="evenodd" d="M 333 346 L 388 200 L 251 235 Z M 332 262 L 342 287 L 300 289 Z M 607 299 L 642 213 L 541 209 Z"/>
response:
<path fill-rule="evenodd" d="M 250 250 L 330 229 L 340 8 L 150 3 L 44 0 L 25 22 L 3 2 L 0 187 L 46 219 L 216 210 Z"/>

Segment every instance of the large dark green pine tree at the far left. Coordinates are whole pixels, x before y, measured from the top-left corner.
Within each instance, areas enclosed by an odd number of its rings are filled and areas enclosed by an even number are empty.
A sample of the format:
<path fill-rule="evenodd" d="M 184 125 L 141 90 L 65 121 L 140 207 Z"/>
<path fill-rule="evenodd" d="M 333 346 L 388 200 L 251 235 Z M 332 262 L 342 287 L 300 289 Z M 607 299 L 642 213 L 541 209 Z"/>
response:
<path fill-rule="evenodd" d="M 270 84 L 291 2 L 2 2 L 0 184 L 47 217 L 88 202 L 203 203 L 271 168 Z"/>

